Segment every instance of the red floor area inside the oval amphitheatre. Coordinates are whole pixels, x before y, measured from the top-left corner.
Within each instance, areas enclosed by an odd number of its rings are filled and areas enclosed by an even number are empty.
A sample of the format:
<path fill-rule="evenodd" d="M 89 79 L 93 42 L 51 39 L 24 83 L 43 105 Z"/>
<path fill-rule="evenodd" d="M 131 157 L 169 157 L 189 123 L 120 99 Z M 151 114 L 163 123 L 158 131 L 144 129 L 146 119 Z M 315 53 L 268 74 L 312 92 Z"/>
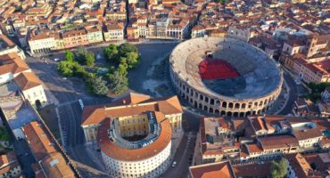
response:
<path fill-rule="evenodd" d="M 226 79 L 239 77 L 239 73 L 227 62 L 222 60 L 203 60 L 199 65 L 203 80 Z"/>

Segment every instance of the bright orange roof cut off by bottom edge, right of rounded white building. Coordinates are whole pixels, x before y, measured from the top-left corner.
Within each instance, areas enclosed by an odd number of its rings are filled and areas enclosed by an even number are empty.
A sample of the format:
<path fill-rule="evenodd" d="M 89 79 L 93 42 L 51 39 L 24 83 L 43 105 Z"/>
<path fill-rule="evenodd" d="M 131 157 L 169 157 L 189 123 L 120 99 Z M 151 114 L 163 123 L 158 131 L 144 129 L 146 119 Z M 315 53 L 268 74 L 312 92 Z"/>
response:
<path fill-rule="evenodd" d="M 192 178 L 234 178 L 235 173 L 229 161 L 189 167 Z"/>

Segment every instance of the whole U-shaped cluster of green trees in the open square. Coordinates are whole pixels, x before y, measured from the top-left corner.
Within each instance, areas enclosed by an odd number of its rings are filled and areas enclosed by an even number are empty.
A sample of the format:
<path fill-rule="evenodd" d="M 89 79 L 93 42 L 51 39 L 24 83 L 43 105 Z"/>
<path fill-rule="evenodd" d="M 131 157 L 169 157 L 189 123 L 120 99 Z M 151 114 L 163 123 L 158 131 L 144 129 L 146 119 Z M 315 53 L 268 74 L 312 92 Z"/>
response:
<path fill-rule="evenodd" d="M 87 90 L 96 95 L 122 93 L 128 89 L 128 70 L 133 69 L 139 63 L 140 55 L 133 44 L 110 44 L 104 49 L 106 61 L 112 63 L 109 72 L 102 76 L 88 72 L 87 67 L 92 67 L 95 62 L 95 54 L 88 52 L 83 47 L 78 47 L 76 53 L 65 52 L 57 70 L 64 77 L 81 77 L 87 84 Z"/>

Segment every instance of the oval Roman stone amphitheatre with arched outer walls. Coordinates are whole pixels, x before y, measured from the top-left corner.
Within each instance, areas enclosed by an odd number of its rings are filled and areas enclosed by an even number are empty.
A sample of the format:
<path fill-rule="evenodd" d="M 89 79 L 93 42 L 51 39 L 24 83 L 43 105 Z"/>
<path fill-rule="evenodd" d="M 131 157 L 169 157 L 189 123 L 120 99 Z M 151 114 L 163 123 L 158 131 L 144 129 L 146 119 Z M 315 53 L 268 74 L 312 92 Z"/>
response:
<path fill-rule="evenodd" d="M 270 109 L 281 93 L 276 61 L 230 37 L 194 38 L 169 57 L 177 93 L 195 108 L 218 116 L 245 117 Z"/>

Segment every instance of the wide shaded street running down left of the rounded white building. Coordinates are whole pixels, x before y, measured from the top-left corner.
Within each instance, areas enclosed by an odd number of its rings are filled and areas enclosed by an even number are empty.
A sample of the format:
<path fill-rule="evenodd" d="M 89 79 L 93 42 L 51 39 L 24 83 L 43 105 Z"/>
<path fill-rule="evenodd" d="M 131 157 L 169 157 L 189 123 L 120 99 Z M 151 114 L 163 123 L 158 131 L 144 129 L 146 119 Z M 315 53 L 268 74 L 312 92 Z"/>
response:
<path fill-rule="evenodd" d="M 102 177 L 95 162 L 88 158 L 84 145 L 84 134 L 80 127 L 82 109 L 78 99 L 93 102 L 95 98 L 88 95 L 85 85 L 77 79 L 63 79 L 56 71 L 56 62 L 46 59 L 28 57 L 26 59 L 29 67 L 35 71 L 37 76 L 44 82 L 46 89 L 53 93 L 57 101 L 59 120 L 64 138 L 63 148 L 68 151 L 70 158 L 78 166 L 79 174 L 83 177 Z"/>

